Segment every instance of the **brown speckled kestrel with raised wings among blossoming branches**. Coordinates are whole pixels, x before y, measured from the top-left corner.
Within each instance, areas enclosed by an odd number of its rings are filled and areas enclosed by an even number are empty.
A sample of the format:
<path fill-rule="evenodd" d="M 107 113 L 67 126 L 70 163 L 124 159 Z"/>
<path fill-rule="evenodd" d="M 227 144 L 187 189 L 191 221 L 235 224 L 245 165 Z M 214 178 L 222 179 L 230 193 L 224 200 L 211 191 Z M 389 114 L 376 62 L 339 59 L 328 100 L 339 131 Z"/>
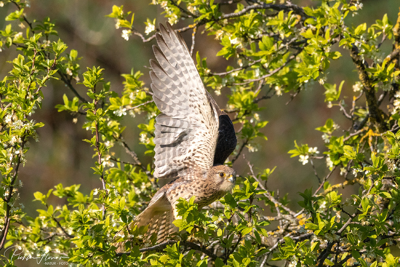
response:
<path fill-rule="evenodd" d="M 156 117 L 155 178 L 172 178 L 153 196 L 147 208 L 129 226 L 149 225 L 147 238 L 157 243 L 178 228 L 175 204 L 182 197 L 202 208 L 232 190 L 235 171 L 224 166 L 236 148 L 232 121 L 221 111 L 202 83 L 196 65 L 179 32 L 160 24 L 151 59 L 153 99 L 162 112 Z"/>

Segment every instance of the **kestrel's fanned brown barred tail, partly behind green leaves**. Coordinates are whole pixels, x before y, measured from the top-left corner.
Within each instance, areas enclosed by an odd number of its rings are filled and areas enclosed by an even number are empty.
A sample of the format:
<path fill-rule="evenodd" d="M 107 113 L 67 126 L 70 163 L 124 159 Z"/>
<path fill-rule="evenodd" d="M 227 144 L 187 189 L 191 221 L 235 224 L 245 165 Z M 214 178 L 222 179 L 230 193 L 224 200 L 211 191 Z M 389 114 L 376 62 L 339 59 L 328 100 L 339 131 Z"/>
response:
<path fill-rule="evenodd" d="M 172 223 L 175 219 L 172 208 L 170 210 L 158 210 L 157 207 L 149 206 L 142 213 L 136 216 L 135 220 L 130 223 L 128 228 L 131 233 L 135 225 L 138 228 L 148 225 L 148 230 L 144 235 L 143 241 L 145 243 L 150 242 L 152 244 L 158 244 L 166 241 L 169 235 L 178 231 L 178 227 Z M 119 236 L 121 235 L 122 233 Z M 116 236 L 118 236 L 118 233 Z M 126 251 L 126 243 L 129 241 L 130 239 L 127 239 L 116 243 L 116 252 L 121 253 Z"/>

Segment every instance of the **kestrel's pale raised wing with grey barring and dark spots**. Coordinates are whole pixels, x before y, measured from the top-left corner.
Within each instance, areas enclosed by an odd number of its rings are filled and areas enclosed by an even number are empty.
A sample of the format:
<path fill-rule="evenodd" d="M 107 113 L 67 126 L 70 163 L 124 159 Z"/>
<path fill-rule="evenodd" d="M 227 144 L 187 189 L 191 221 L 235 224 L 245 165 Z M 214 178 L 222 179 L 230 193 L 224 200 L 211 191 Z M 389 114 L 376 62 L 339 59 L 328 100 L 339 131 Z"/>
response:
<path fill-rule="evenodd" d="M 218 140 L 218 111 L 210 101 L 182 36 L 170 24 L 156 34 L 158 63 L 150 60 L 153 99 L 162 114 L 156 117 L 154 177 L 207 172 L 214 163 Z"/>

